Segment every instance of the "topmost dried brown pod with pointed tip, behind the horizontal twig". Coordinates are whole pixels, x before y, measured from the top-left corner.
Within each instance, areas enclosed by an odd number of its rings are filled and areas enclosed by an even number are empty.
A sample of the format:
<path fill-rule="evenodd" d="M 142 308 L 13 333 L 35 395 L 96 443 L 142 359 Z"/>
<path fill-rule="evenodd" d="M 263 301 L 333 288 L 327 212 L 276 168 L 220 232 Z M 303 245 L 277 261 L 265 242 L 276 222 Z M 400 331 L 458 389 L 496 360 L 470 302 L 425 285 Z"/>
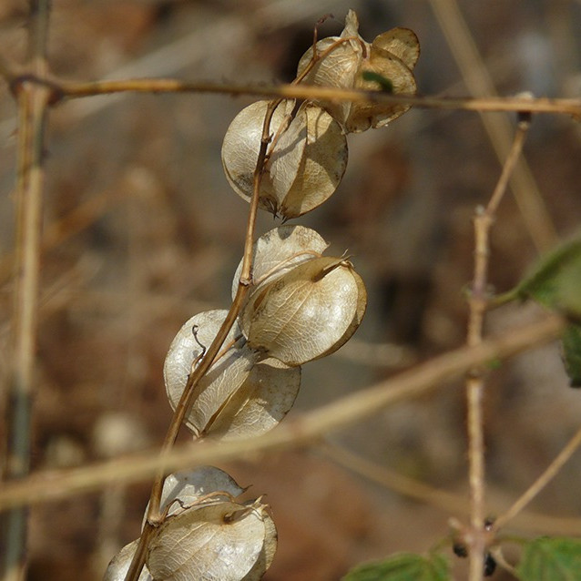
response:
<path fill-rule="evenodd" d="M 375 81 L 364 80 L 372 72 L 389 81 L 393 93 L 414 94 L 413 66 L 420 55 L 417 36 L 408 28 L 392 28 L 372 44 L 359 35 L 357 15 L 350 10 L 341 36 L 323 38 L 317 45 L 317 60 L 304 76 L 312 85 L 377 90 Z M 311 66 L 312 47 L 301 57 L 298 75 Z M 348 133 L 383 127 L 409 109 L 405 105 L 321 103 Z"/>

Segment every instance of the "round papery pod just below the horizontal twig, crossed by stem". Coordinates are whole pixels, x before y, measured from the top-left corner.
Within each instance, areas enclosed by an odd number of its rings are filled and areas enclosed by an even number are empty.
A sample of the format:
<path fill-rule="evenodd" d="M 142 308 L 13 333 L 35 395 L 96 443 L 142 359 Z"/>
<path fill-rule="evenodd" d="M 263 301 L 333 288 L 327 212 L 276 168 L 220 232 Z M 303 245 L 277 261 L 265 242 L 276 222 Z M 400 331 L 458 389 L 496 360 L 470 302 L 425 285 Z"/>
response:
<path fill-rule="evenodd" d="M 230 186 L 250 199 L 268 102 L 240 111 L 222 146 L 222 165 Z M 284 219 L 319 206 L 335 191 L 347 165 L 341 126 L 321 107 L 306 102 L 292 114 L 283 101 L 270 121 L 273 136 L 260 184 L 260 208 Z"/>

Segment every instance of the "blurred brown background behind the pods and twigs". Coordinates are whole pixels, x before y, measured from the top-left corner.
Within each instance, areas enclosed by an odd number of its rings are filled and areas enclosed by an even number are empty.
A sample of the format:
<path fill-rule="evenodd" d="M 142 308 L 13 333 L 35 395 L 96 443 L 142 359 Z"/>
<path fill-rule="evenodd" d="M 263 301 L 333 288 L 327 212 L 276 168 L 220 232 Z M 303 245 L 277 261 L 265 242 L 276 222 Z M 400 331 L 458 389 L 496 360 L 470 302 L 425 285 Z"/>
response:
<path fill-rule="evenodd" d="M 331 13 L 320 36 L 338 34 L 352 7 L 369 41 L 396 25 L 413 28 L 422 45 L 415 69 L 420 93 L 466 96 L 470 81 L 457 63 L 467 55 L 454 44 L 460 30 L 443 16 L 450 5 L 453 0 L 55 0 L 50 66 L 66 79 L 290 81 L 315 22 Z M 458 6 L 500 95 L 579 97 L 581 2 L 464 0 Z M 23 60 L 25 15 L 25 2 L 0 4 L 0 51 L 15 62 Z M 468 76 L 482 78 L 473 65 Z M 35 469 L 153 450 L 161 442 L 170 419 L 162 380 L 169 342 L 196 312 L 229 305 L 248 206 L 229 189 L 220 148 L 230 120 L 248 103 L 212 95 L 123 95 L 80 99 L 51 111 Z M 506 119 L 514 127 L 515 118 Z M 0 83 L 3 379 L 15 132 L 15 104 Z M 547 231 L 557 240 L 578 228 L 580 138 L 569 117 L 535 117 L 525 158 L 542 211 L 538 228 L 531 226 L 513 196 L 505 198 L 492 239 L 490 281 L 496 290 L 519 280 L 546 246 Z M 498 144 L 476 113 L 416 109 L 390 127 L 350 136 L 349 145 L 341 187 L 296 221 L 318 229 L 333 253 L 349 251 L 366 282 L 369 309 L 340 352 L 304 366 L 290 417 L 465 338 L 472 217 L 498 178 Z M 524 195 L 534 200 L 535 189 Z M 260 217 L 259 231 L 275 226 L 270 216 Z M 508 307 L 492 313 L 487 329 L 506 330 L 532 316 L 526 306 Z M 491 505 L 506 506 L 522 493 L 580 418 L 581 392 L 568 387 L 558 345 L 526 353 L 491 374 L 485 400 Z M 457 494 L 461 515 L 464 424 L 462 384 L 450 383 L 330 434 L 329 441 L 377 471 Z M 181 440 L 187 438 L 182 434 Z M 454 514 L 371 483 L 319 446 L 220 467 L 241 485 L 252 484 L 254 495 L 266 494 L 271 505 L 280 544 L 270 581 L 338 579 L 363 559 L 427 550 L 446 535 Z M 557 517 L 551 533 L 560 522 L 565 526 L 559 517 L 581 517 L 580 479 L 577 454 L 535 501 L 535 511 Z M 99 579 L 118 548 L 138 536 L 147 499 L 144 483 L 34 507 L 29 578 Z M 538 534 L 541 525 L 529 519 L 524 532 Z"/>

